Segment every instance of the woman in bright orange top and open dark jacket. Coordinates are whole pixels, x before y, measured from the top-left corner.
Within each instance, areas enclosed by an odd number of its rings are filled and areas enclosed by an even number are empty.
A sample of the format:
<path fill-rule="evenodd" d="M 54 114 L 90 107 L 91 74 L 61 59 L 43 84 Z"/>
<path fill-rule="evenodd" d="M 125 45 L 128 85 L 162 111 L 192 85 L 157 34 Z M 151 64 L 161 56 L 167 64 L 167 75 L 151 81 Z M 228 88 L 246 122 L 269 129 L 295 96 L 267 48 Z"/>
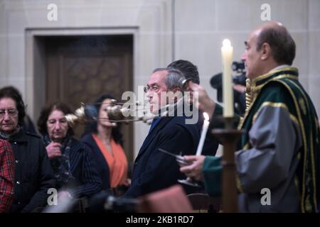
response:
<path fill-rule="evenodd" d="M 102 189 L 112 189 L 115 195 L 123 194 L 129 186 L 127 178 L 128 162 L 122 148 L 122 133 L 119 126 L 108 120 L 105 109 L 113 97 L 100 96 L 95 101 L 97 122 L 87 125 L 82 142 L 91 148 L 95 155 L 96 167 L 102 180 Z"/>

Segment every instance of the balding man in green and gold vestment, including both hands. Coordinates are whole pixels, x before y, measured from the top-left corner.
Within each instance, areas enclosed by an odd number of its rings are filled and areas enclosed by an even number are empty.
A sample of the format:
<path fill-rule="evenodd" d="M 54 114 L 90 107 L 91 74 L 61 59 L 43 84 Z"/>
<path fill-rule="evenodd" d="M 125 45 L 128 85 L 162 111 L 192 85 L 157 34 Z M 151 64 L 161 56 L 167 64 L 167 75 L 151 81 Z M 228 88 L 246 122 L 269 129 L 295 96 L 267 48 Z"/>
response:
<path fill-rule="evenodd" d="M 245 42 L 242 60 L 251 81 L 252 103 L 239 123 L 245 133 L 235 153 L 239 209 L 246 212 L 317 212 L 320 200 L 320 134 L 314 105 L 298 81 L 292 36 L 280 23 L 262 24 Z M 203 87 L 199 108 L 220 115 Z M 188 156 L 181 167 L 188 177 L 203 180 L 209 194 L 218 194 L 221 165 L 218 157 Z M 262 189 L 270 189 L 270 204 L 262 204 Z"/>

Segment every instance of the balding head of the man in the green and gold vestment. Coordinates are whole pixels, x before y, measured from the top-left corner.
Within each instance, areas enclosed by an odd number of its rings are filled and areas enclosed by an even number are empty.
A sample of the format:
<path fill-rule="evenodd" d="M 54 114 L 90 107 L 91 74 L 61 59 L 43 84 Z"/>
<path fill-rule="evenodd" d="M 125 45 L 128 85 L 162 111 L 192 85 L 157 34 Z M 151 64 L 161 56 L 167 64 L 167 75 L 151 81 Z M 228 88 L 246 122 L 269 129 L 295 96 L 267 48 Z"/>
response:
<path fill-rule="evenodd" d="M 245 41 L 242 60 L 247 77 L 254 79 L 279 65 L 292 65 L 296 45 L 287 28 L 281 23 L 263 23 L 253 30 Z"/>

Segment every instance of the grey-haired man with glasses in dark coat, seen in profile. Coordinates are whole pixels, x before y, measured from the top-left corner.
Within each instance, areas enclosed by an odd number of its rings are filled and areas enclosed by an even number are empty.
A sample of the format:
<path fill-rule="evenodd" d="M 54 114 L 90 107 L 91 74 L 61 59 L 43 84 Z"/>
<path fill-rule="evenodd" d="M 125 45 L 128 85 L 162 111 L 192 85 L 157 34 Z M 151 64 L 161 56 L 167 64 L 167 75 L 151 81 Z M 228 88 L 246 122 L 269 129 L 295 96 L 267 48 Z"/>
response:
<path fill-rule="evenodd" d="M 183 92 L 182 73 L 174 69 L 156 69 L 144 89 L 149 99 L 150 111 L 155 115 L 176 96 L 168 97 L 168 92 Z M 161 94 L 162 93 L 162 94 Z M 196 124 L 187 124 L 186 116 L 161 116 L 154 118 L 149 134 L 139 150 L 132 172 L 132 184 L 124 197 L 142 196 L 177 184 L 186 178 L 179 172 L 174 157 L 162 153 L 159 148 L 176 155 L 196 153 L 200 133 Z M 185 188 L 186 189 L 186 188 Z M 188 193 L 189 189 L 186 189 Z"/>

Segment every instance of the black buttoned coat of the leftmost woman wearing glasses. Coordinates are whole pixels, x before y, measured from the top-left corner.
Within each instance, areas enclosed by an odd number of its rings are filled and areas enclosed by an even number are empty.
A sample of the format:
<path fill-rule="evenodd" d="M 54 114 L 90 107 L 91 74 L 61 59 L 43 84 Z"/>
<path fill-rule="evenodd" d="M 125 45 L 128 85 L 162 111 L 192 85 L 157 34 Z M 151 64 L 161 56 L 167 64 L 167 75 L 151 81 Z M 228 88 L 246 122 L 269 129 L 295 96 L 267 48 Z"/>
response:
<path fill-rule="evenodd" d="M 20 130 L 9 142 L 16 158 L 16 193 L 11 212 L 43 208 L 47 204 L 48 189 L 55 187 L 55 179 L 41 138 Z"/>

